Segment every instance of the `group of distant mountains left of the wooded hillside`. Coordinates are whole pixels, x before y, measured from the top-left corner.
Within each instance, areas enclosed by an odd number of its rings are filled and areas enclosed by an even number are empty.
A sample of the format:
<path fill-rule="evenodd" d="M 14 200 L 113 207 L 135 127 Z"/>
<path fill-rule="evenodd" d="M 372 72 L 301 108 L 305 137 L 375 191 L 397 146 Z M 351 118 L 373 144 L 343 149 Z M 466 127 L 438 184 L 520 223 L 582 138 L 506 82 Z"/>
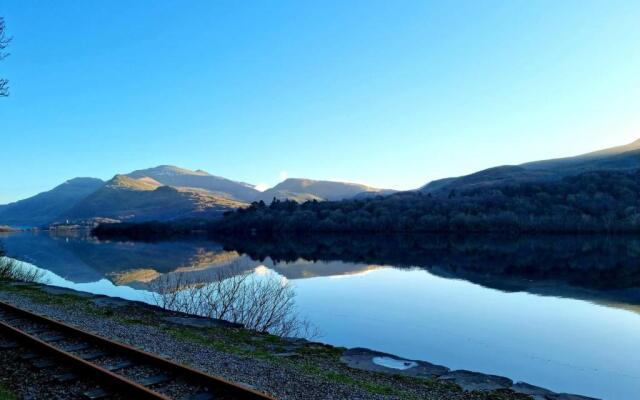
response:
<path fill-rule="evenodd" d="M 287 179 L 260 192 L 249 183 L 202 170 L 161 165 L 115 175 L 107 182 L 74 178 L 47 192 L 0 205 L 0 225 L 38 227 L 87 224 L 105 219 L 142 222 L 216 218 L 253 201 L 271 202 L 273 198 L 324 201 L 391 192 L 354 183 L 311 179 Z"/>

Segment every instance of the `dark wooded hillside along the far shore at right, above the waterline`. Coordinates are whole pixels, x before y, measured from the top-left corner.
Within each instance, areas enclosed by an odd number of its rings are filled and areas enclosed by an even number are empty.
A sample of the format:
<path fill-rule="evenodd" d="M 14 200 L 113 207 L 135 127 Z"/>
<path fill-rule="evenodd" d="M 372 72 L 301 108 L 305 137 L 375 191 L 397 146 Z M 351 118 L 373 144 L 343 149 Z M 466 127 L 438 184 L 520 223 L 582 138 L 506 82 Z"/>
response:
<path fill-rule="evenodd" d="M 403 192 L 386 197 L 267 205 L 228 212 L 209 230 L 277 233 L 638 232 L 640 171 L 587 172 L 550 182 Z"/>

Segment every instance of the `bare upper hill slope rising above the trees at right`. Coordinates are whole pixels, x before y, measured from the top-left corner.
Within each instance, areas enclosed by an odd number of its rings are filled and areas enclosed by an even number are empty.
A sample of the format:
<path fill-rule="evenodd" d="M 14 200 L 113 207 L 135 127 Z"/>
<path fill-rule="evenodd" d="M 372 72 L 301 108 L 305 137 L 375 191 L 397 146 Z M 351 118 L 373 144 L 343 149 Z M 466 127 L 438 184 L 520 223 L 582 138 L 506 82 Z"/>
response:
<path fill-rule="evenodd" d="M 640 140 L 575 157 L 504 165 L 461 177 L 439 179 L 419 190 L 447 194 L 452 190 L 481 189 L 516 182 L 552 182 L 592 171 L 630 172 L 637 169 L 640 169 Z"/>

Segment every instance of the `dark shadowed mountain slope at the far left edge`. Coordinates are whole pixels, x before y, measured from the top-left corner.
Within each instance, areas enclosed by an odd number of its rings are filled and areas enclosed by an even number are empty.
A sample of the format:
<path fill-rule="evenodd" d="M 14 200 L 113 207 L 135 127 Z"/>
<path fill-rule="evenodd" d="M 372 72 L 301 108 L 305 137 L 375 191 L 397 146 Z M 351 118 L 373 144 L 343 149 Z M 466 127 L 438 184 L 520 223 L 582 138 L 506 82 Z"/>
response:
<path fill-rule="evenodd" d="M 96 178 L 75 178 L 48 192 L 0 208 L 0 225 L 38 226 L 52 222 L 75 203 L 95 192 L 104 182 Z"/>

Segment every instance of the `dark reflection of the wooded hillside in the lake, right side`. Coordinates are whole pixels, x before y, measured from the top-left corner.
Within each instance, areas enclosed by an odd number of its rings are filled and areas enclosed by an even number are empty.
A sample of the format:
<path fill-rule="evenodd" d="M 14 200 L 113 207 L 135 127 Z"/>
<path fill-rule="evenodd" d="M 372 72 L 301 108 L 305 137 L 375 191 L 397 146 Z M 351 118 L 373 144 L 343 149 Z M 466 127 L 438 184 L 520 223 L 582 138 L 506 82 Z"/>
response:
<path fill-rule="evenodd" d="M 640 239 L 628 236 L 409 236 L 268 241 L 224 238 L 225 248 L 276 265 L 341 260 L 421 268 L 504 292 L 591 300 L 640 311 Z"/>

